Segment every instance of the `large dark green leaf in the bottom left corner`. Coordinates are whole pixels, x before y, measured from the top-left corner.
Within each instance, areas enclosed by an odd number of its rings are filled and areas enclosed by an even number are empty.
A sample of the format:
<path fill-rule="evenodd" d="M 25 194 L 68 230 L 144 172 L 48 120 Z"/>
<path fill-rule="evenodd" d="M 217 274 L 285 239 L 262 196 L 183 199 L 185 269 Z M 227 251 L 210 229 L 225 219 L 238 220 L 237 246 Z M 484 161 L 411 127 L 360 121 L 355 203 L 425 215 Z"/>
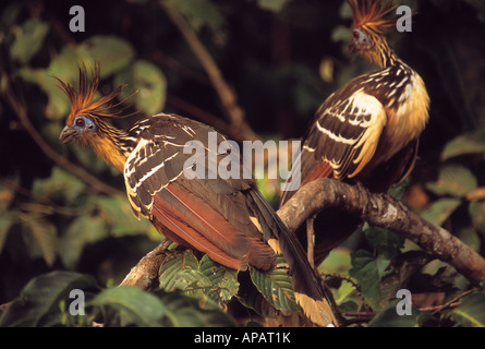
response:
<path fill-rule="evenodd" d="M 69 301 L 73 289 L 85 292 L 97 289 L 92 276 L 69 272 L 52 272 L 32 279 L 20 297 L 0 317 L 0 327 L 36 327 L 60 325 L 59 303 Z"/>

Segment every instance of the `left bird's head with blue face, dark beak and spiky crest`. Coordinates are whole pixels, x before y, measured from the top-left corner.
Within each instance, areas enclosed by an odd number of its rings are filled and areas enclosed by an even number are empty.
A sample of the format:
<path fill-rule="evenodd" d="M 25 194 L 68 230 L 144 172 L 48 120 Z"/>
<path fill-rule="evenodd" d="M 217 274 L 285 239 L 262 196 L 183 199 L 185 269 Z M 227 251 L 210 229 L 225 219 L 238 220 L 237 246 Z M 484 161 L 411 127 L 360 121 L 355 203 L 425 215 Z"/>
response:
<path fill-rule="evenodd" d="M 106 131 L 107 122 L 102 118 L 112 118 L 120 113 L 116 107 L 120 104 L 110 104 L 124 88 L 124 84 L 110 94 L 94 100 L 100 80 L 99 64 L 95 64 L 90 79 L 85 65 L 80 67 L 78 92 L 68 83 L 57 79 L 59 87 L 71 100 L 71 112 L 66 119 L 59 142 L 68 144 L 76 141 L 83 145 L 93 145 L 98 142 L 102 132 Z"/>

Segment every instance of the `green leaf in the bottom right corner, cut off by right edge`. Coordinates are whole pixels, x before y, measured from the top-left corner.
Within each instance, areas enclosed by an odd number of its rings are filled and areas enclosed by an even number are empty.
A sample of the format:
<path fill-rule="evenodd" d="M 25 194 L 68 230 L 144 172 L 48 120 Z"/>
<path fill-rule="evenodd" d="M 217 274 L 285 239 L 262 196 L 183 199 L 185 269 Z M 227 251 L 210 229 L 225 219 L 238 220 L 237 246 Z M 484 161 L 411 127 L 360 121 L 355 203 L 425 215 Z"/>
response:
<path fill-rule="evenodd" d="M 462 299 L 451 311 L 456 322 L 464 327 L 485 327 L 485 292 L 476 292 Z"/>

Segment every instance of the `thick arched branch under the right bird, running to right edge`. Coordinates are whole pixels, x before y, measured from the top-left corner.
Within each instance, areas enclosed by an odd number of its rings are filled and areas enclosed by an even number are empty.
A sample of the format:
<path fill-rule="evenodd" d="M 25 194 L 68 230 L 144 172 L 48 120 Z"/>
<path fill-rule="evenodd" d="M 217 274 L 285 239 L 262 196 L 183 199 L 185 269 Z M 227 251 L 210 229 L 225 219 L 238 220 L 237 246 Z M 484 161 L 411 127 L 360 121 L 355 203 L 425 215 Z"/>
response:
<path fill-rule="evenodd" d="M 470 281 L 485 281 L 485 260 L 480 254 L 401 202 L 387 194 L 371 193 L 360 184 L 317 179 L 302 186 L 278 214 L 290 231 L 295 231 L 307 217 L 331 207 L 357 215 L 372 226 L 397 231 L 425 252 L 452 265 Z"/>

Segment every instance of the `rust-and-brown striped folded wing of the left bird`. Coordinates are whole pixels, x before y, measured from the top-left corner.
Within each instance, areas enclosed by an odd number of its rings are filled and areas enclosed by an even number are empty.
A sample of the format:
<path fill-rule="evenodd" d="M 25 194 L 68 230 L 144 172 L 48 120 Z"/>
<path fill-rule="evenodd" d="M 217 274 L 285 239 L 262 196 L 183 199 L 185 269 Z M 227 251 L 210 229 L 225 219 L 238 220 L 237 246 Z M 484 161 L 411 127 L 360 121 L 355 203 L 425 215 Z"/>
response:
<path fill-rule="evenodd" d="M 268 269 L 275 253 L 251 219 L 254 214 L 242 193 L 252 188 L 252 181 L 213 178 L 210 173 L 217 170 L 211 161 L 217 165 L 231 156 L 239 161 L 239 155 L 227 149 L 217 153 L 223 136 L 192 120 L 174 122 L 170 116 L 154 117 L 137 128 L 142 140 L 124 168 L 135 215 L 150 219 L 169 239 L 205 252 L 226 266 L 245 269 L 250 263 Z M 208 146 L 209 136 L 215 149 Z M 213 151 L 217 154 L 209 155 Z M 197 154 L 201 157 L 195 159 Z M 203 176 L 187 179 L 186 170 L 202 166 L 197 161 L 205 164 Z"/>

